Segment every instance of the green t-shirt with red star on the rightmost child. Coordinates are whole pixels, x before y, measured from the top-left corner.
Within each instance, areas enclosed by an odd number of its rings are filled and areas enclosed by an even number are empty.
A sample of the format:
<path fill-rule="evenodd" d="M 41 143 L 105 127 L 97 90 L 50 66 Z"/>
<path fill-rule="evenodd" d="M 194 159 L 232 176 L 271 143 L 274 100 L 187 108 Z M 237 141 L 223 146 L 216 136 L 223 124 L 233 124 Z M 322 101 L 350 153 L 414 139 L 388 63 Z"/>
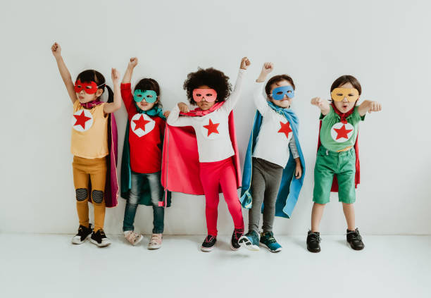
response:
<path fill-rule="evenodd" d="M 358 137 L 358 123 L 364 118 L 365 115 L 361 117 L 358 106 L 355 106 L 354 112 L 346 118 L 347 123 L 341 123 L 341 118 L 330 106 L 330 111 L 326 116 L 320 115 L 320 119 L 322 119 L 320 142 L 323 147 L 336 152 L 353 147 L 356 137 Z"/>

